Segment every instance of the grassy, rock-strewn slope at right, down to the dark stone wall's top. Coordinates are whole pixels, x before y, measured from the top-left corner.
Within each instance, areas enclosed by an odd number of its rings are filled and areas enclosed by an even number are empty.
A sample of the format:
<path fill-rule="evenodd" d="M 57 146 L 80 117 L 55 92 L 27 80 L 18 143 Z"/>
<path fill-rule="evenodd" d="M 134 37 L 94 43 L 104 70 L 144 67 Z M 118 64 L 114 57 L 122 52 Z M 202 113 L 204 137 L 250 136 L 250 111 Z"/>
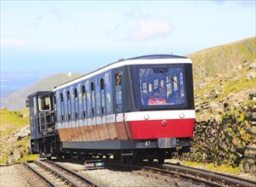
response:
<path fill-rule="evenodd" d="M 255 53 L 255 37 L 250 37 L 188 55 L 193 61 L 196 120 L 219 121 L 224 105 L 241 105 L 255 93 Z"/>

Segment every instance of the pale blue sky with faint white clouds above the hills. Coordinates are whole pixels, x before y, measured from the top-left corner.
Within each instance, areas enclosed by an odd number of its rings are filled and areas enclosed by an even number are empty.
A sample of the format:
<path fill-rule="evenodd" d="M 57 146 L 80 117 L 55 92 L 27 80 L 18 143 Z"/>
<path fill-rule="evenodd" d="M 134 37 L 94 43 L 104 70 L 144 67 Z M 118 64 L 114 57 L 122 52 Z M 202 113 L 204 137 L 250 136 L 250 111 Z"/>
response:
<path fill-rule="evenodd" d="M 87 73 L 255 37 L 255 1 L 1 0 L 1 71 Z"/>

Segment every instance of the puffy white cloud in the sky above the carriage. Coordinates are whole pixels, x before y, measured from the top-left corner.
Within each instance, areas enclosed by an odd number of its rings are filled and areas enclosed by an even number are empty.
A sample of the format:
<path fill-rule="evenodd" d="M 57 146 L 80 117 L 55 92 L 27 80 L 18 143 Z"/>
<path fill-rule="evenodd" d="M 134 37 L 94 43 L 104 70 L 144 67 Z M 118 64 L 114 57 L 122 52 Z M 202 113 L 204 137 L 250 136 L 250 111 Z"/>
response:
<path fill-rule="evenodd" d="M 139 26 L 132 31 L 129 39 L 132 41 L 147 41 L 156 37 L 167 37 L 173 31 L 173 26 L 166 20 L 140 20 Z"/>

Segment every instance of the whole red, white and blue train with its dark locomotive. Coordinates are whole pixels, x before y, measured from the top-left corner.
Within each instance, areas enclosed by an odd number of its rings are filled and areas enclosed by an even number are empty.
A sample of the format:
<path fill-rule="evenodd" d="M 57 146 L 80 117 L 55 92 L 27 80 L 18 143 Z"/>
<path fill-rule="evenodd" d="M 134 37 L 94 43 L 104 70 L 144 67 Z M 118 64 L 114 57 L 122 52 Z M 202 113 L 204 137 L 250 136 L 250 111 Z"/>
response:
<path fill-rule="evenodd" d="M 31 152 L 128 162 L 188 152 L 195 123 L 192 80 L 191 59 L 156 54 L 118 60 L 53 91 L 30 94 Z M 148 103 L 155 88 L 165 103 Z M 174 94 L 179 101 L 170 99 Z"/>

